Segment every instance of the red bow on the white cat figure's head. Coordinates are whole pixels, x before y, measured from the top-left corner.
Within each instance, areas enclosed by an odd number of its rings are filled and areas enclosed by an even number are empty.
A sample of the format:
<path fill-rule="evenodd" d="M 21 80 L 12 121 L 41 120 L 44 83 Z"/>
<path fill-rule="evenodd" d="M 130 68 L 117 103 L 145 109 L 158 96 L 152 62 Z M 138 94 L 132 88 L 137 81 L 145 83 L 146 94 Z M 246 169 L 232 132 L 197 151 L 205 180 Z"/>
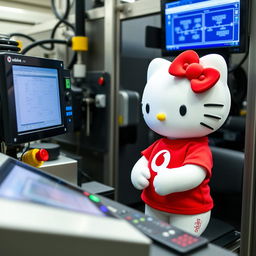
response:
<path fill-rule="evenodd" d="M 214 68 L 203 68 L 199 64 L 199 56 L 192 50 L 181 53 L 174 59 L 168 72 L 177 77 L 190 80 L 195 93 L 202 93 L 212 88 L 220 78 L 220 72 Z"/>

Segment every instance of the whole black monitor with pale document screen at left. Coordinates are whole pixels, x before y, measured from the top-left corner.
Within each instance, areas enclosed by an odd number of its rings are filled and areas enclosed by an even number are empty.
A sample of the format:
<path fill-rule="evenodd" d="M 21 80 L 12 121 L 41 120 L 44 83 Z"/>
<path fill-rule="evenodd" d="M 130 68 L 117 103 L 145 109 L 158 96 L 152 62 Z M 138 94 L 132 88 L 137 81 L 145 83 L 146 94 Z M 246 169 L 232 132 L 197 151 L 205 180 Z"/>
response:
<path fill-rule="evenodd" d="M 1 53 L 0 65 L 1 139 L 13 145 L 65 133 L 73 113 L 63 62 Z"/>

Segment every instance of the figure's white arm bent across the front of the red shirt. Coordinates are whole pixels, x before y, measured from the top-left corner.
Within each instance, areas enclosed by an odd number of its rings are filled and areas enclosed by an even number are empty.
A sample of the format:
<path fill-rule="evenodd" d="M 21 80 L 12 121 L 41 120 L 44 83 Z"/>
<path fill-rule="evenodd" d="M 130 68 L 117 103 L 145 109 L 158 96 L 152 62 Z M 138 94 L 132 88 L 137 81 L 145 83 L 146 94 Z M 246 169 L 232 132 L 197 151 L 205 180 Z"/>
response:
<path fill-rule="evenodd" d="M 153 185 L 159 195 L 168 195 L 197 187 L 206 177 L 206 170 L 194 164 L 159 170 Z"/>

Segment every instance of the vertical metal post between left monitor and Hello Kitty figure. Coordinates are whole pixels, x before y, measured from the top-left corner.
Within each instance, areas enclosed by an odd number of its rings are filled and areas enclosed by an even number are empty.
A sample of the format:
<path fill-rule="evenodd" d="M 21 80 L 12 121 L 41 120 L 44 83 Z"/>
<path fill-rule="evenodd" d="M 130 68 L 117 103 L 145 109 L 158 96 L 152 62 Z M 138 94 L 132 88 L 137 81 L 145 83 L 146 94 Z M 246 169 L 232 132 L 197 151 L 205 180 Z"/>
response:
<path fill-rule="evenodd" d="M 105 180 L 110 186 L 117 185 L 118 168 L 118 91 L 120 62 L 120 21 L 117 15 L 116 1 L 105 1 L 104 19 L 104 69 L 110 74 L 110 120 L 109 120 L 109 150 L 106 156 Z"/>

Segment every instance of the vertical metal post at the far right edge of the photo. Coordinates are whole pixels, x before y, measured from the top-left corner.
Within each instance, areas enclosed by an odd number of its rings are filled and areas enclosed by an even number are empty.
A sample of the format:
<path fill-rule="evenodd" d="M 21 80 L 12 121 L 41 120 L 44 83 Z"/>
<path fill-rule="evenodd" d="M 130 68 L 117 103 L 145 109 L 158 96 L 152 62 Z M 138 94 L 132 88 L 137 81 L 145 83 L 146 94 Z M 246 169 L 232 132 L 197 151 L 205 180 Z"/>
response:
<path fill-rule="evenodd" d="M 251 14 L 255 12 L 256 2 L 251 1 Z M 250 25 L 241 256 L 256 255 L 256 19 L 252 15 Z"/>

